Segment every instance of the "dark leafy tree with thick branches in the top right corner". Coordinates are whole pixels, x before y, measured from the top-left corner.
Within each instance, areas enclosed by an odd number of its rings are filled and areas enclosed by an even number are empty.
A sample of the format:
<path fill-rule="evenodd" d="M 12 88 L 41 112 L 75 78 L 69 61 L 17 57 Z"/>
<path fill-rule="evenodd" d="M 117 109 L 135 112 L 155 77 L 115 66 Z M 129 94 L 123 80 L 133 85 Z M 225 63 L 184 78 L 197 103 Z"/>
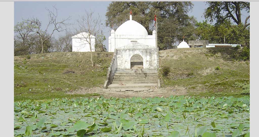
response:
<path fill-rule="evenodd" d="M 241 21 L 241 11 L 245 10 L 250 12 L 249 2 L 206 2 L 208 8 L 205 9 L 204 17 L 211 22 L 215 20 L 217 24 L 224 22 L 227 19 L 233 20 L 237 25 L 243 24 Z M 250 25 L 248 19 L 250 15 L 246 17 L 243 27 L 246 28 Z"/>

